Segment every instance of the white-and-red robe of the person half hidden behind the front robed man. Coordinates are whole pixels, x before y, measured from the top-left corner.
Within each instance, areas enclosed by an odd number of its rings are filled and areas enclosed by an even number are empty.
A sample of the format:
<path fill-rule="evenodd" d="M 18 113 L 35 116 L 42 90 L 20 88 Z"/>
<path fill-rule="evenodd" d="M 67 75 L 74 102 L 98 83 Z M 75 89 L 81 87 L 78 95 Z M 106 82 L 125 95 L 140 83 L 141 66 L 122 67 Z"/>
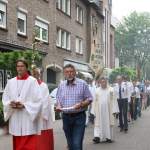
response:
<path fill-rule="evenodd" d="M 38 80 L 42 95 L 42 131 L 38 136 L 38 150 L 54 150 L 54 139 L 52 129 L 52 114 L 51 114 L 51 100 L 47 85 Z"/>

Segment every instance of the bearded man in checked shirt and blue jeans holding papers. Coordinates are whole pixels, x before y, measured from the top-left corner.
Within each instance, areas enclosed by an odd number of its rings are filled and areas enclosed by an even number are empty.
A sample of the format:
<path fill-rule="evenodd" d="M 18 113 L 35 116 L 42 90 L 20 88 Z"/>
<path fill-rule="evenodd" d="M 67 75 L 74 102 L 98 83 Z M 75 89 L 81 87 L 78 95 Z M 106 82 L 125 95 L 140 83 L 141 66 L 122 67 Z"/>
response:
<path fill-rule="evenodd" d="M 63 130 L 69 150 L 82 150 L 85 131 L 85 110 L 92 101 L 92 95 L 85 81 L 76 78 L 76 69 L 67 64 L 64 67 L 66 80 L 57 92 L 57 111 L 62 111 Z"/>

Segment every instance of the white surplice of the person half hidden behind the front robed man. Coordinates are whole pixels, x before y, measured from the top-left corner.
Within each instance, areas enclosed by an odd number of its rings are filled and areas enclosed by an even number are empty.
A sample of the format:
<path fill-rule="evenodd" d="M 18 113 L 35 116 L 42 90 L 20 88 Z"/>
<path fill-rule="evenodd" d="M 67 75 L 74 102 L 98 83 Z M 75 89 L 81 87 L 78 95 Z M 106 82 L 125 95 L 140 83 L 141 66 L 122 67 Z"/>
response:
<path fill-rule="evenodd" d="M 51 100 L 47 85 L 42 82 L 40 84 L 42 95 L 42 130 L 52 129 L 52 114 L 51 114 Z"/>

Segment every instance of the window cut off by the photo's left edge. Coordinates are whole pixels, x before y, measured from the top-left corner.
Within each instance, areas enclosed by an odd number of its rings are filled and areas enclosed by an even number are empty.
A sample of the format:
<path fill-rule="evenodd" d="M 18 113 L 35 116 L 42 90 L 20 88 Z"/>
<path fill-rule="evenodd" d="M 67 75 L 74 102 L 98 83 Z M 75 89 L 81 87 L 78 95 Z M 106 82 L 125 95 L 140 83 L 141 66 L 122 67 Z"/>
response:
<path fill-rule="evenodd" d="M 0 2 L 0 27 L 6 28 L 6 4 Z"/>

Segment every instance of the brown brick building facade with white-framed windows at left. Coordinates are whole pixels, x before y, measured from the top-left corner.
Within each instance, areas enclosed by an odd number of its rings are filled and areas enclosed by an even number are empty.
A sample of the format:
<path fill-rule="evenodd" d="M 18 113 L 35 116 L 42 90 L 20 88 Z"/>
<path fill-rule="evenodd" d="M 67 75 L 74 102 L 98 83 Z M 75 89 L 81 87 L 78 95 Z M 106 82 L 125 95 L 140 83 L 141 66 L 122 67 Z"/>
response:
<path fill-rule="evenodd" d="M 102 4 L 89 0 L 0 0 L 0 51 L 32 50 L 36 39 L 39 44 L 35 47 L 44 56 L 41 66 L 47 83 L 58 84 L 67 63 L 88 73 L 93 44 L 100 47 L 100 62 L 105 60 Z M 94 24 L 92 17 L 96 18 Z"/>

